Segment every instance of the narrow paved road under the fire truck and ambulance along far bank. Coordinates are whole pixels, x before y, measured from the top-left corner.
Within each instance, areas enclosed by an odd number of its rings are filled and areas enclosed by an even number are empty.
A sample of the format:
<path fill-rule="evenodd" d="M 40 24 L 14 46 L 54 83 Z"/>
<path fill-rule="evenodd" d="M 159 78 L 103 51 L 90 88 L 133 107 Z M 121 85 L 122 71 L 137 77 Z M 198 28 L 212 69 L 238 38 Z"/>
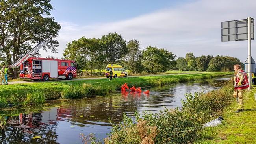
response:
<path fill-rule="evenodd" d="M 182 74 L 200 74 L 200 73 L 207 73 L 207 72 L 195 72 L 195 73 L 182 73 Z M 177 75 L 177 74 L 153 74 L 153 75 L 144 75 L 144 76 L 168 76 L 168 75 Z M 141 77 L 141 76 L 128 76 L 128 77 Z M 55 81 L 78 81 L 78 80 L 89 80 L 89 79 L 106 79 L 106 77 L 99 77 L 99 78 L 74 78 L 72 80 L 66 80 L 66 79 L 52 79 L 47 82 L 55 82 Z M 21 84 L 21 83 L 46 83 L 45 81 L 32 81 L 32 80 L 26 80 L 26 81 L 8 81 L 9 85 L 12 84 Z"/>

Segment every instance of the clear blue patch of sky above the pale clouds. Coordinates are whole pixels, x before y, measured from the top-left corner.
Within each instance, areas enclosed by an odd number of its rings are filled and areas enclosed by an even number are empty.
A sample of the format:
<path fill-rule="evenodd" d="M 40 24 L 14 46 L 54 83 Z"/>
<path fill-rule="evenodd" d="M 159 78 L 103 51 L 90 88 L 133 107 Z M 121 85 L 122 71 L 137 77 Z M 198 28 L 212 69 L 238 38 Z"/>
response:
<path fill-rule="evenodd" d="M 57 21 L 76 24 L 113 22 L 175 8 L 191 0 L 52 0 Z"/>

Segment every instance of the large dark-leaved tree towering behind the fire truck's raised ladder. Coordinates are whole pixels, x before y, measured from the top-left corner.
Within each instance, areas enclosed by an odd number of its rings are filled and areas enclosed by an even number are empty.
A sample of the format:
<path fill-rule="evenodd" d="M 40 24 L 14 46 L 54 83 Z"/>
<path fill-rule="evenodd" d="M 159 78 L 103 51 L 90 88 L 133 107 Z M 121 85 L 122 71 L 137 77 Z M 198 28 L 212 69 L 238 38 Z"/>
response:
<path fill-rule="evenodd" d="M 57 51 L 61 26 L 51 17 L 51 10 L 50 0 L 0 0 L 0 52 L 8 65 L 19 59 L 17 55 L 28 52 L 32 44 L 45 39 L 50 40 L 47 47 Z M 10 72 L 17 78 L 17 68 Z"/>

